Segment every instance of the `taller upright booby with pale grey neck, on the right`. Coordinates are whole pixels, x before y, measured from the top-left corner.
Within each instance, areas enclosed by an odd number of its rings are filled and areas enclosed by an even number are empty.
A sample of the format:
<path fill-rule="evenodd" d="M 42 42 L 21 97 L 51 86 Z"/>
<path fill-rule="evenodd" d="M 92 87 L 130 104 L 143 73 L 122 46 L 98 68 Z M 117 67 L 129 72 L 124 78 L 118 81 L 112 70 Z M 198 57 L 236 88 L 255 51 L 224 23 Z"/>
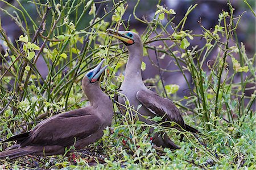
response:
<path fill-rule="evenodd" d="M 195 128 L 188 126 L 184 123 L 184 120 L 170 99 L 160 97 L 155 92 L 147 89 L 142 80 L 141 74 L 141 63 L 143 56 L 143 44 L 142 40 L 138 34 L 131 31 L 116 31 L 112 29 L 107 30 L 110 36 L 121 40 L 129 51 L 129 59 L 125 68 L 125 80 L 123 81 L 120 92 L 129 99 L 130 105 L 137 108 L 138 105 L 142 104 L 142 107 L 139 108 L 138 112 L 146 117 L 153 118 L 155 116 L 163 117 L 163 121 L 172 121 L 176 122 L 177 125 L 173 126 L 180 131 L 187 130 L 193 133 L 199 132 Z M 118 96 L 118 102 L 125 104 L 125 98 Z M 125 111 L 122 111 L 125 113 Z M 141 115 L 139 119 L 149 125 L 152 125 L 153 122 L 150 119 L 144 118 Z M 164 126 L 168 123 L 164 123 Z M 150 130 L 150 133 L 154 130 Z M 183 135 L 181 135 L 181 140 Z M 171 149 L 179 149 L 179 147 L 172 142 L 167 136 L 166 133 L 158 134 L 156 133 L 152 139 L 152 142 L 156 146 L 163 146 Z"/>

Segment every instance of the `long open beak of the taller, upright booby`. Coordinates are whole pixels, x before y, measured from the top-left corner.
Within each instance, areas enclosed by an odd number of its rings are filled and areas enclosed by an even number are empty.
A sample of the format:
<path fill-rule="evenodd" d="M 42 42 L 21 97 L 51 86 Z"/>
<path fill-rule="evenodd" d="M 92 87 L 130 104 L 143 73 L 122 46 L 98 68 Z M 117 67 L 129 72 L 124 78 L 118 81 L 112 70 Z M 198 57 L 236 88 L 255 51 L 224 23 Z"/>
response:
<path fill-rule="evenodd" d="M 133 45 L 134 44 L 134 40 L 132 38 L 130 38 L 129 36 L 127 36 L 126 31 L 117 31 L 117 30 L 108 28 L 106 30 L 106 32 L 108 33 L 108 35 L 121 40 L 125 45 Z"/>

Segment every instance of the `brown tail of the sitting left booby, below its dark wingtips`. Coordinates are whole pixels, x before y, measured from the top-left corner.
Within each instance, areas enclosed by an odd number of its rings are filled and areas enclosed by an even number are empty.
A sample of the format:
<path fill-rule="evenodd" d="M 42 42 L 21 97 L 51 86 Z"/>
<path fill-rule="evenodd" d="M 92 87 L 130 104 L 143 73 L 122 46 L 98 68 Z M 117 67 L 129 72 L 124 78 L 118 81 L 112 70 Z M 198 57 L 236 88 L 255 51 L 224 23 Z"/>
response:
<path fill-rule="evenodd" d="M 19 157 L 19 156 L 32 154 L 34 152 L 36 152 L 34 146 L 27 146 L 24 148 L 16 148 L 13 150 L 0 152 L 0 159 L 4 158 L 4 157 L 15 158 L 15 157 Z"/>

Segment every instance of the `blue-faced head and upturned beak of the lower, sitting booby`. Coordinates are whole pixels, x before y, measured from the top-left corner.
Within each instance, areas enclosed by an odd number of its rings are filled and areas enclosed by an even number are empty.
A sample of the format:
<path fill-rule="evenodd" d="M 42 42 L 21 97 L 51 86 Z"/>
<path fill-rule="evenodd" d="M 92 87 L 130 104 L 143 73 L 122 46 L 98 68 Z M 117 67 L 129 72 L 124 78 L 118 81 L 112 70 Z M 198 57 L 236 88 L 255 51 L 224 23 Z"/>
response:
<path fill-rule="evenodd" d="M 96 66 L 96 68 L 91 69 L 89 72 L 87 72 L 82 79 L 82 87 L 88 87 L 89 85 L 93 85 L 95 82 L 97 82 L 100 79 L 101 74 L 105 71 L 105 69 L 108 67 L 108 65 L 105 65 L 104 68 L 101 68 L 102 64 L 104 63 L 105 59 L 101 61 L 100 64 Z"/>

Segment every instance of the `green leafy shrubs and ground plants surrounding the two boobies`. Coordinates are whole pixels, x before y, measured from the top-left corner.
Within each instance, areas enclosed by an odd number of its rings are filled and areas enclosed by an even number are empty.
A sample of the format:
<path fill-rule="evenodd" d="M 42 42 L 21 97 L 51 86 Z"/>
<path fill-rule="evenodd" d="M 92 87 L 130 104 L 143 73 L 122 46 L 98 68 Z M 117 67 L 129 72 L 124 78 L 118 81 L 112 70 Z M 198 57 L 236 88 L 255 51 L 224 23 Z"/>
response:
<path fill-rule="evenodd" d="M 107 28 L 118 30 L 121 25 L 129 30 L 130 19 L 123 19 L 126 1 L 109 2 L 108 8 L 104 6 L 105 1 L 17 1 L 18 6 L 2 2 L 10 9 L 0 7 L 2 12 L 11 16 L 23 31 L 13 43 L 0 21 L 1 39 L 7 47 L 7 52 L 0 54 L 4 63 L 0 72 L 2 140 L 30 130 L 43 118 L 86 106 L 81 79 L 101 59 L 106 59 L 109 64 L 101 86 L 110 98 L 114 98 L 123 80 L 122 72 L 128 53 L 122 43 L 110 38 L 105 31 Z M 27 12 L 27 3 L 36 8 L 38 18 Z M 245 95 L 248 85 L 255 85 L 255 54 L 247 56 L 246 47 L 238 42 L 236 32 L 243 13 L 235 16 L 232 4 L 228 3 L 230 11 L 219 14 L 218 24 L 213 29 L 207 30 L 199 21 L 202 32 L 194 34 L 191 30 L 184 30 L 184 24 L 191 11 L 197 10 L 196 4 L 188 8 L 179 23 L 174 24 L 175 11 L 161 6 L 160 2 L 155 7 L 154 18 L 139 19 L 136 15 L 138 3 L 134 6 L 133 15 L 147 26 L 141 35 L 144 56 L 154 51 L 158 60 L 171 57 L 179 68 L 175 72 L 181 72 L 187 81 L 189 94 L 183 98 L 175 96 L 178 87 L 164 86 L 161 76 L 146 80 L 151 82 L 149 88 L 174 100 L 185 122 L 197 127 L 202 135 L 197 138 L 189 132 L 181 132 L 185 139 L 179 142 L 179 131 L 139 122 L 136 117 L 129 116 L 132 109 L 129 105 L 126 116 L 122 116 L 115 104 L 112 127 L 105 130 L 101 140 L 86 148 L 86 152 L 76 152 L 75 160 L 70 160 L 69 155 L 23 156 L 0 160 L 0 168 L 256 168 L 256 117 L 252 107 L 255 88 L 253 94 Z M 100 14 L 99 9 L 105 13 Z M 11 13 L 13 10 L 15 12 Z M 253 10 L 247 12 L 255 15 Z M 106 22 L 106 18 L 111 18 L 112 22 Z M 89 24 L 81 24 L 83 20 L 89 20 Z M 167 31 L 170 28 L 174 30 L 172 34 Z M 196 37 L 205 40 L 203 47 L 190 45 L 189 42 Z M 162 45 L 155 47 L 151 45 L 153 42 Z M 214 49 L 218 49 L 217 55 L 214 59 L 209 58 Z M 47 77 L 43 77 L 36 67 L 39 57 L 47 64 Z M 167 70 L 159 69 L 159 75 L 161 72 Z M 190 74 L 186 74 L 188 72 Z M 241 77 L 240 82 L 234 81 L 237 76 Z M 152 146 L 148 134 L 150 127 L 166 131 L 181 149 L 171 151 Z M 11 144 L 14 143 L 1 144 L 0 150 Z"/>

